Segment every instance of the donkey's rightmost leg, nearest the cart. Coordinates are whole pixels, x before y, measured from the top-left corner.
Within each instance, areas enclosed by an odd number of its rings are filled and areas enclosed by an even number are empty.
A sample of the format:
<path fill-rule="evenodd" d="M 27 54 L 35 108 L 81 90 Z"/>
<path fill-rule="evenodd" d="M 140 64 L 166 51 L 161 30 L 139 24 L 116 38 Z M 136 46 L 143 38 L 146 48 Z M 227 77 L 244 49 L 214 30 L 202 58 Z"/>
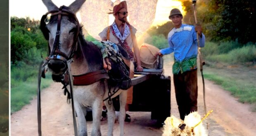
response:
<path fill-rule="evenodd" d="M 121 94 L 119 94 L 119 100 L 120 100 L 120 113 L 119 113 L 119 125 L 120 125 L 120 136 L 123 136 L 124 134 L 124 119 L 126 116 L 126 99 L 127 99 L 127 90 L 122 91 Z"/>

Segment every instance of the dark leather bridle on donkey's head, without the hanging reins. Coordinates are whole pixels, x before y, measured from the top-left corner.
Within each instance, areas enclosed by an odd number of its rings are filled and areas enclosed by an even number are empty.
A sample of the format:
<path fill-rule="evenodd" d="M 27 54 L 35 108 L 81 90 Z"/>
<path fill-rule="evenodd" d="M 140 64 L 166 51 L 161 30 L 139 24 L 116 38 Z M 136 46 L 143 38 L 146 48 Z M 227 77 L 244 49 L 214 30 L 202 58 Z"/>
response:
<path fill-rule="evenodd" d="M 59 10 L 52 10 L 50 12 L 47 12 L 45 15 L 42 16 L 42 19 L 40 21 L 40 29 L 42 30 L 46 40 L 49 40 L 48 30 L 45 28 L 46 21 L 48 17 L 52 18 L 53 16 L 57 16 L 57 31 L 56 31 L 55 41 L 53 44 L 52 51 L 50 51 L 50 45 L 48 45 L 49 56 L 47 57 L 47 61 L 54 59 L 54 60 L 64 61 L 64 63 L 66 63 L 67 60 L 70 60 L 73 57 L 74 53 L 77 50 L 77 40 L 78 40 L 79 31 L 80 31 L 80 24 L 78 19 L 76 18 L 76 15 L 73 12 L 67 9 L 64 9 L 63 6 L 60 7 Z M 61 33 L 60 25 L 61 25 L 62 16 L 72 17 L 73 19 L 75 19 L 75 24 L 76 24 L 76 33 L 73 37 L 73 45 L 69 55 L 59 50 L 59 35 Z"/>

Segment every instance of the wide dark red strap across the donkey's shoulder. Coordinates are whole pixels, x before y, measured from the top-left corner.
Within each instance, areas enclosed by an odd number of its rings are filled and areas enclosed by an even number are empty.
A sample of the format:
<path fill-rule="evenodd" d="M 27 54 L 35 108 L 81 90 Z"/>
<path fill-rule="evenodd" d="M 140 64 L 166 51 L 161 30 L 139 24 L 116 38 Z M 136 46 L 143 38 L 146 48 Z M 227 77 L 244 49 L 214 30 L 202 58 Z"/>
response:
<path fill-rule="evenodd" d="M 89 85 L 101 79 L 109 79 L 105 70 L 97 70 L 83 75 L 73 75 L 73 85 Z"/>

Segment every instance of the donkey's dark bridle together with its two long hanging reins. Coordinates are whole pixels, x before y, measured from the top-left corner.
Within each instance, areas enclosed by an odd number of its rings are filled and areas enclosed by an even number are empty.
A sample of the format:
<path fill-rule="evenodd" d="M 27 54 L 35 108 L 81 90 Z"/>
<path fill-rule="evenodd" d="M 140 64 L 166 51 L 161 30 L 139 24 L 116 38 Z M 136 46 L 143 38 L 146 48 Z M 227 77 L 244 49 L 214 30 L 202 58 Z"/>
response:
<path fill-rule="evenodd" d="M 70 87 L 70 95 L 71 95 L 71 103 L 72 103 L 72 113 L 73 113 L 73 124 L 74 124 L 74 133 L 75 136 L 77 136 L 77 125 L 76 125 L 76 115 L 75 115 L 75 110 L 74 110 L 74 105 L 73 105 L 73 76 L 71 74 L 71 63 L 73 62 L 73 55 L 75 54 L 76 50 L 77 50 L 77 41 L 78 41 L 78 35 L 80 32 L 80 25 L 79 25 L 79 21 L 76 18 L 76 15 L 73 12 L 70 12 L 67 9 L 63 9 L 63 6 L 59 8 L 59 10 L 53 10 L 50 12 L 47 12 L 45 15 L 43 15 L 41 21 L 40 21 L 40 29 L 43 32 L 43 35 L 45 36 L 46 40 L 49 40 L 49 35 L 48 35 L 48 30 L 45 28 L 46 27 L 46 19 L 47 19 L 47 15 L 50 17 L 52 16 L 57 16 L 57 32 L 55 35 L 55 41 L 53 44 L 53 48 L 52 51 L 50 51 L 50 45 L 48 43 L 48 48 L 49 48 L 49 56 L 47 57 L 46 61 L 43 61 L 40 64 L 40 69 L 39 69 L 39 74 L 38 74 L 38 136 L 42 135 L 42 131 L 41 131 L 41 98 L 40 98 L 40 84 L 41 84 L 41 77 L 42 73 L 44 73 L 44 68 L 47 65 L 47 63 L 50 60 L 60 60 L 63 61 L 64 64 L 67 66 L 67 75 L 69 76 L 69 87 Z M 73 19 L 75 19 L 75 23 L 76 23 L 76 34 L 73 37 L 73 45 L 71 47 L 71 52 L 68 55 L 66 55 L 64 52 L 61 52 L 59 50 L 59 35 L 60 35 L 60 25 L 61 25 L 61 19 L 62 16 L 69 16 L 72 17 Z M 49 19 L 50 20 L 50 19 Z"/>

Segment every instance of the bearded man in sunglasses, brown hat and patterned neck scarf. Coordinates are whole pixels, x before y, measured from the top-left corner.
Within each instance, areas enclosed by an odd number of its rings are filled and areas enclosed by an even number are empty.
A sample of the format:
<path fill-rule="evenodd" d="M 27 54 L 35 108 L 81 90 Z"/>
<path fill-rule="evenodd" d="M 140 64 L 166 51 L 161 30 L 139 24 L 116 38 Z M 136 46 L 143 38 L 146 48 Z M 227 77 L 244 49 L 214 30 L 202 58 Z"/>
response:
<path fill-rule="evenodd" d="M 108 13 L 113 14 L 115 21 L 111 26 L 104 28 L 104 30 L 99 34 L 102 41 L 111 41 L 115 44 L 121 45 L 128 55 L 130 56 L 130 78 L 134 77 L 134 64 L 137 63 L 137 71 L 142 71 L 143 68 L 140 64 L 140 52 L 137 46 L 137 41 L 135 37 L 136 29 L 131 26 L 127 21 L 127 4 L 126 1 L 120 2 L 115 5 L 113 11 Z M 133 51 L 132 51 L 133 49 Z M 126 101 L 126 111 L 128 111 L 128 104 L 133 102 L 133 87 L 130 87 L 127 91 L 127 101 Z M 126 122 L 130 122 L 130 116 L 126 114 Z"/>

